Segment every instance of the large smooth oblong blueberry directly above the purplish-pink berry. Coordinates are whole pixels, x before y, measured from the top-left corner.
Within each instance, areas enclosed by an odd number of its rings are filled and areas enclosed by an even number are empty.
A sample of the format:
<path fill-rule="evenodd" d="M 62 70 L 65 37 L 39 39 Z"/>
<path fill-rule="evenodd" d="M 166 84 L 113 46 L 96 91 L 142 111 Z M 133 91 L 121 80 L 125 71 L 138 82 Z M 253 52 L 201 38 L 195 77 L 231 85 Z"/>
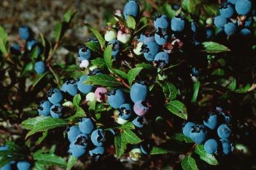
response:
<path fill-rule="evenodd" d="M 130 97 L 132 99 L 132 102 L 137 102 L 139 100 L 146 100 L 148 93 L 148 88 L 143 82 L 136 82 L 132 84 L 131 91 L 130 91 Z"/>

